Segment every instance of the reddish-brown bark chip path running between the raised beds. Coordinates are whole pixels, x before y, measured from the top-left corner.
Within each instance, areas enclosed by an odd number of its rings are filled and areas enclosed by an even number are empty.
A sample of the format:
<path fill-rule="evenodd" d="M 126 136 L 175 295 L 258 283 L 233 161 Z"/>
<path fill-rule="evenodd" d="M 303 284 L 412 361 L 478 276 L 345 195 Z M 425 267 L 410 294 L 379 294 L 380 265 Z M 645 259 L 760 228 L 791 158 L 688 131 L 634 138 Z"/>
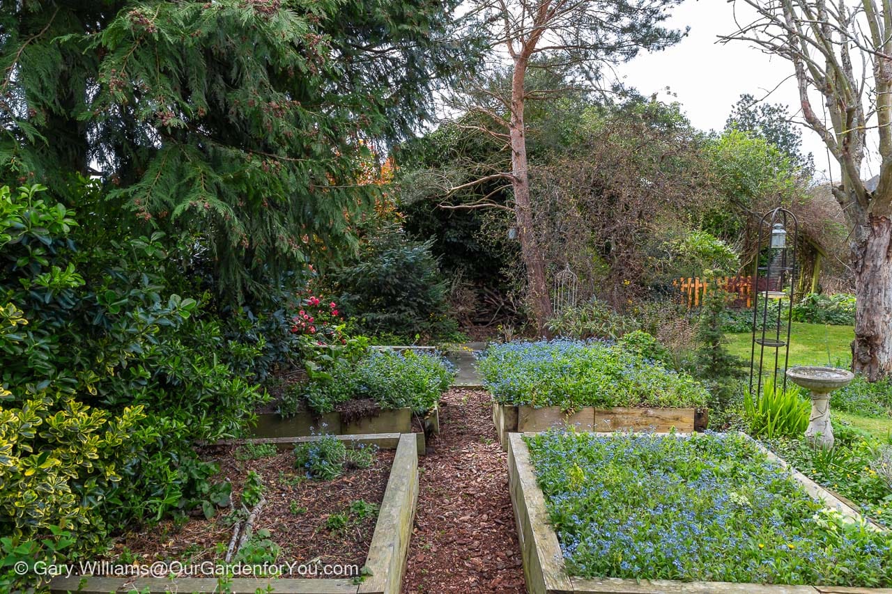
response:
<path fill-rule="evenodd" d="M 525 592 L 508 496 L 508 456 L 487 392 L 453 388 L 440 436 L 418 460 L 420 492 L 402 591 Z"/>

